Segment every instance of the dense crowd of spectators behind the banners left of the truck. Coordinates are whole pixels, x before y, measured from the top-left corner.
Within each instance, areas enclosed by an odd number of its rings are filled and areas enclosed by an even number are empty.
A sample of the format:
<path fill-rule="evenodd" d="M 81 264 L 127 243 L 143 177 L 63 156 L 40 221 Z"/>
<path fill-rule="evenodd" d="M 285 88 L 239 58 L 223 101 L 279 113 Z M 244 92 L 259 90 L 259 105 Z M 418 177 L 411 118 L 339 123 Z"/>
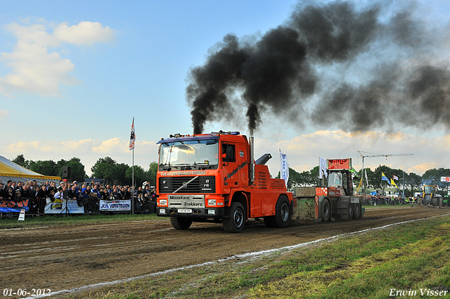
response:
<path fill-rule="evenodd" d="M 79 207 L 84 206 L 85 212 L 92 212 L 98 208 L 100 200 L 120 201 L 135 199 L 135 207 L 139 209 L 145 203 L 156 201 L 156 192 L 154 187 L 146 182 L 143 186 L 119 186 L 91 184 L 84 182 L 81 186 L 77 181 L 60 182 L 56 186 L 55 182 L 37 183 L 34 181 L 13 182 L 8 180 L 6 185 L 0 182 L 0 200 L 20 202 L 30 199 L 32 204 L 30 210 L 32 214 L 43 214 L 46 201 L 51 202 L 61 199 L 76 200 Z M 98 211 L 98 210 L 97 210 Z"/>

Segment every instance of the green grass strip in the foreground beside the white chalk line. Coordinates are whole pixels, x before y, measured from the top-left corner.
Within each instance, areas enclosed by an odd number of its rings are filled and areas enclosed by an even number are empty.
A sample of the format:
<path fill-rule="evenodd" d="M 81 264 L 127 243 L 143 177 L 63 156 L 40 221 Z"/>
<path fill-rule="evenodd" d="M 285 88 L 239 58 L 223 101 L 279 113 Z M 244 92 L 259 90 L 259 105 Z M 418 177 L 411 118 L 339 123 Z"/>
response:
<path fill-rule="evenodd" d="M 70 298 L 450 298 L 449 286 L 446 216 L 150 275 Z"/>

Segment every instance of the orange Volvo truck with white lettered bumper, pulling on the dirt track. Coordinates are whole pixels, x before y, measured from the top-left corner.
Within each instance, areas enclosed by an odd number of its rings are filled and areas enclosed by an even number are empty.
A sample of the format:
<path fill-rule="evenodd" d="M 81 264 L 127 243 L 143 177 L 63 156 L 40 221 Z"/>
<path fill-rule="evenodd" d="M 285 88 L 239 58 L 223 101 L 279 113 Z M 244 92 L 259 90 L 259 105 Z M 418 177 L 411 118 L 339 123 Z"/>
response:
<path fill-rule="evenodd" d="M 283 179 L 272 179 L 265 154 L 255 161 L 253 137 L 239 132 L 170 135 L 158 141 L 158 216 L 175 229 L 192 222 L 222 223 L 239 232 L 249 218 L 267 227 L 288 227 L 293 194 Z"/>

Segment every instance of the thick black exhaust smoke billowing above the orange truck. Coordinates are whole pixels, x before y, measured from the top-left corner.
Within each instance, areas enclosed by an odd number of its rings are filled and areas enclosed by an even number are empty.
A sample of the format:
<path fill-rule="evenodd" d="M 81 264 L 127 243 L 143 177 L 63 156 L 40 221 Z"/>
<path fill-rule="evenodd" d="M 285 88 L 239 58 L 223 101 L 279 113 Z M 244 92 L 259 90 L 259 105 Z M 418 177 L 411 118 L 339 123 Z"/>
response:
<path fill-rule="evenodd" d="M 252 41 L 227 34 L 188 77 L 194 134 L 241 111 L 253 134 L 265 111 L 293 109 L 296 124 L 352 131 L 450 128 L 450 73 L 435 59 L 445 32 L 430 30 L 413 3 L 392 9 L 299 4 L 285 25 Z"/>

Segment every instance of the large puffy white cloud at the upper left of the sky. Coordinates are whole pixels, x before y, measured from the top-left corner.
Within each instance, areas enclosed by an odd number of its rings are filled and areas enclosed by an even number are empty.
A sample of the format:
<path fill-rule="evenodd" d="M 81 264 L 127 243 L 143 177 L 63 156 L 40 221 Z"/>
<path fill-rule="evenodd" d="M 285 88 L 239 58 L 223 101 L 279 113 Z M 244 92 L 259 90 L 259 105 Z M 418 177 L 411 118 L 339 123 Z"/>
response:
<path fill-rule="evenodd" d="M 21 26 L 9 24 L 5 28 L 14 34 L 18 42 L 11 53 L 0 53 L 0 61 L 6 61 L 11 73 L 0 77 L 0 91 L 28 91 L 44 96 L 58 96 L 60 84 L 79 84 L 70 72 L 75 65 L 60 52 L 49 52 L 63 43 L 91 46 L 98 42 L 110 42 L 115 30 L 100 23 L 81 22 L 68 26 L 61 23 L 48 32 L 44 24 Z"/>

